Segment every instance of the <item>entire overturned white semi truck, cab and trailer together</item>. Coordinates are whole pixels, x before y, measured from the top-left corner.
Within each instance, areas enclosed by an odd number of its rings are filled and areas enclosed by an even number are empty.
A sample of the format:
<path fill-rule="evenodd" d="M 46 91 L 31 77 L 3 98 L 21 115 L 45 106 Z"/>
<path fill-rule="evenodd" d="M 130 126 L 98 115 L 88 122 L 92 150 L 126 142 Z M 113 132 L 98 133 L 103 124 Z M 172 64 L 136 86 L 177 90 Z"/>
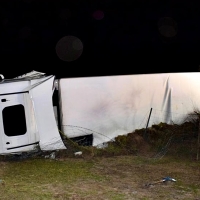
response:
<path fill-rule="evenodd" d="M 32 71 L 0 81 L 0 154 L 67 149 L 61 133 L 102 147 L 200 107 L 200 73 L 60 78 Z"/>

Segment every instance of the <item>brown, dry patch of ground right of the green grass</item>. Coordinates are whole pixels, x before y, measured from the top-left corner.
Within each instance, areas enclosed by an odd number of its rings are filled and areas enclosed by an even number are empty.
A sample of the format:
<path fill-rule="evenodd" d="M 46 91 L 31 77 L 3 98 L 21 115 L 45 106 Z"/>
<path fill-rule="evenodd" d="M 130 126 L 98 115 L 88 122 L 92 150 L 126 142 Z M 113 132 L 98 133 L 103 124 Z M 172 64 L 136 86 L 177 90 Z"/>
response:
<path fill-rule="evenodd" d="M 117 156 L 99 159 L 91 170 L 96 174 L 103 174 L 107 180 L 83 181 L 76 185 L 81 190 L 98 191 L 98 195 L 88 196 L 88 199 L 200 200 L 200 167 L 196 164 L 177 162 L 171 158 L 153 161 L 133 156 Z M 175 182 L 157 183 L 164 177 L 174 178 Z M 108 191 L 115 191 L 116 198 L 108 198 L 105 195 Z M 74 199 L 81 198 L 75 194 Z"/>

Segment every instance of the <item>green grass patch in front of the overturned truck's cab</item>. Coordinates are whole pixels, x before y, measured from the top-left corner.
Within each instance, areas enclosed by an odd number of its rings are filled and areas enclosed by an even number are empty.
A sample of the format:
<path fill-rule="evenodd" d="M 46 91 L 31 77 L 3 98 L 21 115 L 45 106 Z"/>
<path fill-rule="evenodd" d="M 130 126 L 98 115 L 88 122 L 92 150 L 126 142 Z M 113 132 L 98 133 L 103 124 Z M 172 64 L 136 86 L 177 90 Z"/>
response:
<path fill-rule="evenodd" d="M 92 165 L 92 162 L 77 159 L 69 162 L 47 159 L 9 162 L 3 174 L 5 184 L 1 185 L 4 197 L 0 199 L 52 199 L 59 193 L 67 197 L 77 181 L 104 179 L 89 171 Z"/>

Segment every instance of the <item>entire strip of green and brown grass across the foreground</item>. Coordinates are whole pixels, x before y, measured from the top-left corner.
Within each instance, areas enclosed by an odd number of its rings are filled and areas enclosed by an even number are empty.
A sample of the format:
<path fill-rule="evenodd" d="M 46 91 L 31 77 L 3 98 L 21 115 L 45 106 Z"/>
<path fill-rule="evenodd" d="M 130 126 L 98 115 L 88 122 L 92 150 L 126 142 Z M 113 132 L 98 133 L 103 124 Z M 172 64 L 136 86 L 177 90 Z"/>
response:
<path fill-rule="evenodd" d="M 138 156 L 1 161 L 0 199 L 131 200 L 200 197 L 199 162 Z M 164 176 L 176 183 L 144 188 Z"/>

